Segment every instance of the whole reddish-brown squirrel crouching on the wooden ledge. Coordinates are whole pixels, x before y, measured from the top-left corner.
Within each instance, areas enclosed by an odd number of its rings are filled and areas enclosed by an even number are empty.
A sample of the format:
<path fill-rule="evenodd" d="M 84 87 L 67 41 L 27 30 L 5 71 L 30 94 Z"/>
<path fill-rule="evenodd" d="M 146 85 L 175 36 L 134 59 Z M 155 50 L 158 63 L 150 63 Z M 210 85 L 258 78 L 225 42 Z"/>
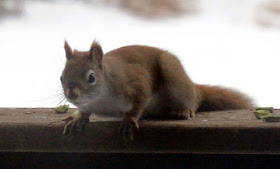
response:
<path fill-rule="evenodd" d="M 133 45 L 103 54 L 96 41 L 89 51 L 72 51 L 67 41 L 64 48 L 60 79 L 67 100 L 79 109 L 67 118 L 64 134 L 81 131 L 92 113 L 122 115 L 121 133 L 131 142 L 141 117 L 187 120 L 195 112 L 253 106 L 240 92 L 193 83 L 178 58 L 165 50 Z"/>

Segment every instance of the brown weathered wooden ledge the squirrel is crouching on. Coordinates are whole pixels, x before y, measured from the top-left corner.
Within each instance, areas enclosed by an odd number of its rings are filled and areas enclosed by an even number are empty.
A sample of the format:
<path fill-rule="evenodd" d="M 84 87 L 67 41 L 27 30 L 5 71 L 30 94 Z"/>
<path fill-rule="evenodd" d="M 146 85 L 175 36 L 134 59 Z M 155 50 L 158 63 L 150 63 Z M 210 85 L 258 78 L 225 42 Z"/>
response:
<path fill-rule="evenodd" d="M 82 135 L 62 135 L 62 119 L 73 111 L 1 108 L 0 151 L 280 153 L 280 123 L 257 120 L 252 110 L 201 113 L 186 121 L 142 120 L 129 146 L 116 118 L 92 116 Z"/>

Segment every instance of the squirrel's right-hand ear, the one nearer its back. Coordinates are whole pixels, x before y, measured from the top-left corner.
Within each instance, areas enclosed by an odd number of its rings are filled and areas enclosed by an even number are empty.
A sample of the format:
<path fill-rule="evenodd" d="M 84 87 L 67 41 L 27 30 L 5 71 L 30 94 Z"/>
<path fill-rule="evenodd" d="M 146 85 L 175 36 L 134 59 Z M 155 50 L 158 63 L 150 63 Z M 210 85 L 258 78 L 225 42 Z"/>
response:
<path fill-rule="evenodd" d="M 99 68 L 102 69 L 102 57 L 103 51 L 98 42 L 93 41 L 90 50 L 89 50 L 89 59 L 92 61 L 96 61 Z"/>

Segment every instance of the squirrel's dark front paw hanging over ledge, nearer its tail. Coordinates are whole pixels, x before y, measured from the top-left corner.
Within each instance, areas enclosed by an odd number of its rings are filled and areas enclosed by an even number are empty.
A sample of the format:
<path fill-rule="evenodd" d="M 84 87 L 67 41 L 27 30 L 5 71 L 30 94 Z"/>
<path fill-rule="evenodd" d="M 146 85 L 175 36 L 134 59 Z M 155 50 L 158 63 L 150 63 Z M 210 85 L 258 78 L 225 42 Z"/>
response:
<path fill-rule="evenodd" d="M 139 126 L 137 121 L 132 118 L 124 118 L 120 128 L 124 144 L 130 144 L 134 140 L 134 131 L 138 128 Z"/>

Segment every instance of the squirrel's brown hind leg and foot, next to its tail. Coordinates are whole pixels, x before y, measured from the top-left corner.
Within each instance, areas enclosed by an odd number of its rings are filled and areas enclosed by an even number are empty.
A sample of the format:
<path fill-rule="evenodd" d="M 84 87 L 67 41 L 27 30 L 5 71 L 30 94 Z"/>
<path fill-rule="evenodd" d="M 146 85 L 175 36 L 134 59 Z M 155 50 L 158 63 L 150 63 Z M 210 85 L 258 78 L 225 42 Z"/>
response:
<path fill-rule="evenodd" d="M 175 55 L 164 52 L 159 59 L 164 93 L 163 104 L 168 107 L 167 116 L 175 119 L 194 118 L 199 103 L 199 93 Z"/>

